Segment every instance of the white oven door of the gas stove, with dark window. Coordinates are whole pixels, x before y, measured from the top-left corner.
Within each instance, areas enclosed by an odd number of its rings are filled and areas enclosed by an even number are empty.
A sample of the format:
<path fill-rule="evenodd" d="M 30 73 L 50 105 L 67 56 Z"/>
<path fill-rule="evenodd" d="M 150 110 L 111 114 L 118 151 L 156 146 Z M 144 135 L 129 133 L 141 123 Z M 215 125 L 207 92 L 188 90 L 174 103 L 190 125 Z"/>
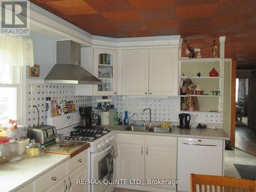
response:
<path fill-rule="evenodd" d="M 92 179 L 101 180 L 101 184 L 92 185 L 92 192 L 103 192 L 109 187 L 103 181 L 109 179 L 110 168 L 110 148 L 113 143 L 109 143 L 102 151 L 92 153 Z M 115 168 L 114 168 L 115 170 Z"/>

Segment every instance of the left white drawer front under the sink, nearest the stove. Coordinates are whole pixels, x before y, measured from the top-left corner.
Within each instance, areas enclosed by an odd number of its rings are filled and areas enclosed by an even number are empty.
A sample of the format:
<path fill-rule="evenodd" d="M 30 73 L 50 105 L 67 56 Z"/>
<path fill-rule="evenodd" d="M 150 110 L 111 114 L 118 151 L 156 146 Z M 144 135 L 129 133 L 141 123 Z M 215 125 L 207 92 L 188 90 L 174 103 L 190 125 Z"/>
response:
<path fill-rule="evenodd" d="M 132 144 L 145 144 L 145 135 L 136 135 L 136 134 L 116 134 L 117 143 L 132 143 Z"/>

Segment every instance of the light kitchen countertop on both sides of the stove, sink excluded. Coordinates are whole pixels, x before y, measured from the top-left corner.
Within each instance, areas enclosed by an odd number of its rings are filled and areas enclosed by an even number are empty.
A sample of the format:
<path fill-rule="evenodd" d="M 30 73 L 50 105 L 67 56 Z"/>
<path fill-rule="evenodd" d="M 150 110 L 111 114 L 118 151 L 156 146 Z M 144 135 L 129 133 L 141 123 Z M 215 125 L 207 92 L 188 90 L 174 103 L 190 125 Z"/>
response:
<path fill-rule="evenodd" d="M 173 133 L 157 133 L 157 132 L 138 132 L 127 131 L 124 127 L 127 125 L 106 125 L 109 130 L 116 133 L 125 134 L 142 134 L 142 135 L 159 135 L 170 137 L 193 137 L 206 139 L 228 140 L 229 136 L 223 129 L 203 129 L 201 131 L 196 128 L 180 129 L 175 127 Z M 58 165 L 70 159 L 69 155 L 57 155 L 44 153 L 37 157 L 24 157 L 19 162 L 8 162 L 0 164 L 0 191 L 17 191 L 20 188 L 33 182 L 40 176 L 49 172 Z"/>

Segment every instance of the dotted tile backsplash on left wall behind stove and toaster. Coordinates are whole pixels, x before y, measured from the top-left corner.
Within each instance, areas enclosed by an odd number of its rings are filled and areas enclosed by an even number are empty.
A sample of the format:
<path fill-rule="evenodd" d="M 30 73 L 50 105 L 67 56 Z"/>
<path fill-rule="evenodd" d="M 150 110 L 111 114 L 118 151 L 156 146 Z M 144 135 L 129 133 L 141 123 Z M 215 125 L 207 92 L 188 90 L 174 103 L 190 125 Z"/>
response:
<path fill-rule="evenodd" d="M 38 116 L 36 105 L 39 110 L 39 124 L 46 124 L 46 97 L 51 97 L 53 100 L 57 100 L 58 103 L 65 99 L 67 101 L 74 101 L 76 110 L 79 106 L 92 105 L 91 96 L 74 96 L 75 85 L 71 84 L 53 84 L 44 83 L 43 81 L 27 81 L 27 126 L 37 125 Z"/>

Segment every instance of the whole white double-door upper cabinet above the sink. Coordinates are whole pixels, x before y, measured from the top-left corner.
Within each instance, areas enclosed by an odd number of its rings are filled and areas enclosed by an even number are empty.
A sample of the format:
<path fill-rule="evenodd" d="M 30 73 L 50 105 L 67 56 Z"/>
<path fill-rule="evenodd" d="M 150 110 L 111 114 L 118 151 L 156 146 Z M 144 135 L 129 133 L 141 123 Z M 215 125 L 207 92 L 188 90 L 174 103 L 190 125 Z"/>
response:
<path fill-rule="evenodd" d="M 176 96 L 178 48 L 122 51 L 122 95 Z"/>

